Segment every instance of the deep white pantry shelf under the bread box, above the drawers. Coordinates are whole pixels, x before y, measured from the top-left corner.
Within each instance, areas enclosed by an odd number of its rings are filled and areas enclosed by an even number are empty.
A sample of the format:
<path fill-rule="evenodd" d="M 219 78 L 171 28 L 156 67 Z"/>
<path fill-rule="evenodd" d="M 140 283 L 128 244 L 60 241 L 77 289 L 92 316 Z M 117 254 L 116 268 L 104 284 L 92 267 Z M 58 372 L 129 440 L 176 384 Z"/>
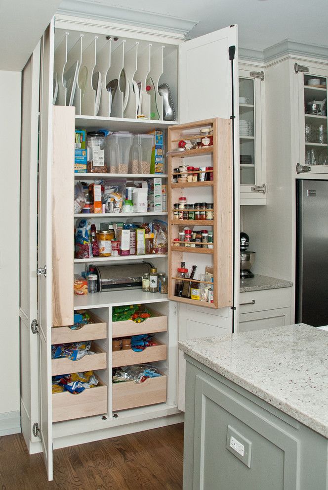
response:
<path fill-rule="evenodd" d="M 168 301 L 167 294 L 144 293 L 142 289 L 129 289 L 74 296 L 74 309 L 102 308 L 109 305 L 121 306 L 125 304 L 159 303 L 164 301 Z"/>

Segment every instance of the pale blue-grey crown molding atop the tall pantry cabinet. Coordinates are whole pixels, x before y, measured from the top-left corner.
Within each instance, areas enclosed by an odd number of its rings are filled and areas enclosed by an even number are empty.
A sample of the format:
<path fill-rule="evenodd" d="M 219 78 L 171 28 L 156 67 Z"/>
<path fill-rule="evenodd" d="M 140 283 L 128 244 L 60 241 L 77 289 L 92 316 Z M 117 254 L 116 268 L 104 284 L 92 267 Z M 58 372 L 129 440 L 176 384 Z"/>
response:
<path fill-rule="evenodd" d="M 89 0 L 63 0 L 57 12 L 63 15 L 156 28 L 182 34 L 183 36 L 198 24 L 198 21 L 195 20 L 180 19 L 171 15 L 108 5 L 106 0 L 100 0 L 97 3 Z"/>

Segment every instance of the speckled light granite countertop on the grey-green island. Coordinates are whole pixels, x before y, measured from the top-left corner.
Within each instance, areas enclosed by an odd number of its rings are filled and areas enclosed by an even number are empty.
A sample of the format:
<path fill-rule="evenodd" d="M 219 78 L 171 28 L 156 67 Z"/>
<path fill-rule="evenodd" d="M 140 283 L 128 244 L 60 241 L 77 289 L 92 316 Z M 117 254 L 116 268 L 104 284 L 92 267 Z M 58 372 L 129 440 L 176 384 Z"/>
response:
<path fill-rule="evenodd" d="M 328 438 L 328 332 L 305 324 L 179 342 L 179 349 Z"/>

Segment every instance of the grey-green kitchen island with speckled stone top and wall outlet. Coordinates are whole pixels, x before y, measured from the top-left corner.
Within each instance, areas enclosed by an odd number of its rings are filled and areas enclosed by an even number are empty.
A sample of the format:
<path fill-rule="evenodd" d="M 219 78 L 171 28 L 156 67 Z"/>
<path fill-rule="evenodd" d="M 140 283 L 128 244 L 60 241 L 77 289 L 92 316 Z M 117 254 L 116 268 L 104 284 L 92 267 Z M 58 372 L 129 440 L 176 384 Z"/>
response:
<path fill-rule="evenodd" d="M 328 332 L 298 324 L 179 348 L 184 490 L 328 488 Z"/>

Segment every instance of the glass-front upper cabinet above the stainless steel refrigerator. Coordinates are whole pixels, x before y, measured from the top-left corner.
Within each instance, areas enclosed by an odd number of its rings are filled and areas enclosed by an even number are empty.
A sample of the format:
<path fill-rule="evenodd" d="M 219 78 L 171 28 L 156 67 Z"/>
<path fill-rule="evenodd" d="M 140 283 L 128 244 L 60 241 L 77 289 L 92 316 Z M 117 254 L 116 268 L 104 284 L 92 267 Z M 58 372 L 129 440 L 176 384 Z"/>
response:
<path fill-rule="evenodd" d="M 295 71 L 299 68 L 295 64 Z M 298 71 L 300 157 L 296 172 L 302 178 L 328 174 L 327 77 L 328 70 L 301 66 Z"/>

